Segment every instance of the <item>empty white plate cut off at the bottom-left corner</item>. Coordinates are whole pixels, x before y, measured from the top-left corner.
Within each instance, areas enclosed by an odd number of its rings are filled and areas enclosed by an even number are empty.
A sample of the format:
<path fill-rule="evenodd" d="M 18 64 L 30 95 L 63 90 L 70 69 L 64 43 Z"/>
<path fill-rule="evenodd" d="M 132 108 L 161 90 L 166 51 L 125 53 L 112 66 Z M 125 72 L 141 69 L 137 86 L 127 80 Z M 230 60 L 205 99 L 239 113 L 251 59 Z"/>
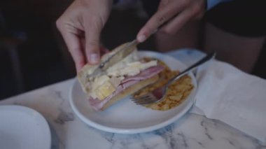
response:
<path fill-rule="evenodd" d="M 0 148 L 50 149 L 48 123 L 31 108 L 0 106 Z"/>

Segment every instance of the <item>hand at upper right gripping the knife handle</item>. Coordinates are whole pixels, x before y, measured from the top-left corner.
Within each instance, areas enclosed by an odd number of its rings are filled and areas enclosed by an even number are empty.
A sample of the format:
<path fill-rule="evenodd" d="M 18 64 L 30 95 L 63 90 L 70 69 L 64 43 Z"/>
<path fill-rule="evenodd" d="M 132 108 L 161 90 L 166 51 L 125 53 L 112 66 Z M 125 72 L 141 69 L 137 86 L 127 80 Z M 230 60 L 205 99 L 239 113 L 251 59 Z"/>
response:
<path fill-rule="evenodd" d="M 137 34 L 137 41 L 146 41 L 159 28 L 167 34 L 176 34 L 186 22 L 204 15 L 205 3 L 206 0 L 161 0 L 157 12 Z"/>

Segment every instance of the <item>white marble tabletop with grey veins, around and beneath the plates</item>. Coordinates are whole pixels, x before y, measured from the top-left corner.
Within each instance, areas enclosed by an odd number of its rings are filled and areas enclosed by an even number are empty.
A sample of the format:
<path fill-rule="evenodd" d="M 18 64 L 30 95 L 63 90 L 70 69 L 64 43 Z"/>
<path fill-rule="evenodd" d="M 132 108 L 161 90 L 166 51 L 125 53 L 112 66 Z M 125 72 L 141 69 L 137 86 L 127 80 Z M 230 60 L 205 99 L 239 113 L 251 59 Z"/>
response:
<path fill-rule="evenodd" d="M 202 54 L 191 50 L 171 53 L 190 64 Z M 49 85 L 0 101 L 1 105 L 22 105 L 41 113 L 50 124 L 52 148 L 93 149 L 177 149 L 177 148 L 265 148 L 237 129 L 187 113 L 172 125 L 144 134 L 113 134 L 85 125 L 69 106 L 73 79 Z"/>

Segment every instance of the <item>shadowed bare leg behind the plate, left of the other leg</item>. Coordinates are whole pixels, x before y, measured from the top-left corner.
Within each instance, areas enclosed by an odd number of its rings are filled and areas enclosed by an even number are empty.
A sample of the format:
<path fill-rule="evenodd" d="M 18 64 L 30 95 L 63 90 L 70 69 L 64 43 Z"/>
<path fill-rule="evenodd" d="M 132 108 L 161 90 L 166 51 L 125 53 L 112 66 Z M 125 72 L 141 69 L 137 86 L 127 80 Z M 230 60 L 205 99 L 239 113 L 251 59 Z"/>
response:
<path fill-rule="evenodd" d="M 167 52 L 180 48 L 199 49 L 200 24 L 200 21 L 189 22 L 179 32 L 172 35 L 158 31 L 155 34 L 157 50 Z"/>

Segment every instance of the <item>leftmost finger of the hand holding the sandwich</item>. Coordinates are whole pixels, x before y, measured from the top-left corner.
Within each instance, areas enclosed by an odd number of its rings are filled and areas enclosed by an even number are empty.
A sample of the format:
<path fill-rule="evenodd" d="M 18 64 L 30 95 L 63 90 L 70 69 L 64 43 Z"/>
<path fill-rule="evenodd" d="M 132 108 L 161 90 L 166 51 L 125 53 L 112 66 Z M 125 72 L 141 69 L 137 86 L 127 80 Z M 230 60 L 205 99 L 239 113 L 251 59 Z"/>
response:
<path fill-rule="evenodd" d="M 83 56 L 82 46 L 80 44 L 80 39 L 76 34 L 68 31 L 66 27 L 62 25 L 62 23 L 57 21 L 57 28 L 62 34 L 64 41 L 66 43 L 67 48 L 71 56 L 73 57 L 73 61 L 76 65 L 76 71 L 80 71 L 80 69 L 85 65 L 85 57 Z"/>

